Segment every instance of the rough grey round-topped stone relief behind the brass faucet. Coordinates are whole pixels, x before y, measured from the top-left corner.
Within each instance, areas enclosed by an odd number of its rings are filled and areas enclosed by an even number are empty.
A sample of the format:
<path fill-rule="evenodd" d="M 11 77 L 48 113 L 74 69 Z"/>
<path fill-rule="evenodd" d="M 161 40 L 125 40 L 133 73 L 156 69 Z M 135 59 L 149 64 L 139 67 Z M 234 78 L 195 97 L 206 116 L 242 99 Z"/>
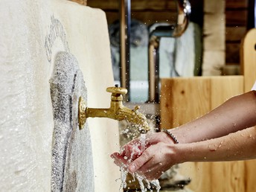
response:
<path fill-rule="evenodd" d="M 54 113 L 51 191 L 95 191 L 89 127 L 78 127 L 78 100 L 87 100 L 83 74 L 68 52 L 57 54 L 50 80 Z"/>

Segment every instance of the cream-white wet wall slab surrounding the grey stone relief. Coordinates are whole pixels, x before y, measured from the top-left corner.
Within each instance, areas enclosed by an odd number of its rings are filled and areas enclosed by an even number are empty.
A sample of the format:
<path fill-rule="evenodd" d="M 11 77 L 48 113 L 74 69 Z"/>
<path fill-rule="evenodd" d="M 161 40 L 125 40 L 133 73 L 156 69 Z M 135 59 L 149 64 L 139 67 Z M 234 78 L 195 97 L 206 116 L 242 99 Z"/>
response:
<path fill-rule="evenodd" d="M 0 191 L 50 191 L 48 80 L 54 56 L 73 54 L 86 81 L 88 105 L 109 107 L 106 87 L 113 86 L 113 77 L 105 14 L 64 0 L 2 0 L 0 18 Z M 119 191 L 119 169 L 109 158 L 118 150 L 118 124 L 96 118 L 88 123 L 95 191 Z"/>

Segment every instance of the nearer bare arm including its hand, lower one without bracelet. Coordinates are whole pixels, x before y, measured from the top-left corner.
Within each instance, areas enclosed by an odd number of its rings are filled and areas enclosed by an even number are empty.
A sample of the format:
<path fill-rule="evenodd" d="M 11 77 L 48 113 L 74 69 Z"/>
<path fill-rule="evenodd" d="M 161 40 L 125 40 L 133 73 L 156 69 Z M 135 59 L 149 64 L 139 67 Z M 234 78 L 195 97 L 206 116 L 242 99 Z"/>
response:
<path fill-rule="evenodd" d="M 158 179 L 173 164 L 186 161 L 236 161 L 255 159 L 256 129 L 243 129 L 220 138 L 191 144 L 159 142 L 144 150 L 129 164 L 129 172 L 138 172 L 147 179 Z"/>

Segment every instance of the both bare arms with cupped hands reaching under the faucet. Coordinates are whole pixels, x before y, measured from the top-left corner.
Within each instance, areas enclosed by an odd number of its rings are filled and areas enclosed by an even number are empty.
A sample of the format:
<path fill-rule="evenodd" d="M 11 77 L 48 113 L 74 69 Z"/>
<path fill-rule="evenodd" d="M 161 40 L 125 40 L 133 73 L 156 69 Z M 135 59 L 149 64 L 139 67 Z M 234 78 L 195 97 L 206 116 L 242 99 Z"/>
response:
<path fill-rule="evenodd" d="M 127 164 L 147 179 L 157 179 L 173 164 L 185 161 L 232 161 L 256 158 L 256 92 L 227 100 L 201 118 L 171 129 L 179 144 L 164 132 L 147 134 L 146 147 L 131 163 L 124 161 L 138 139 L 123 153 L 113 154 L 117 164 Z M 248 128 L 252 127 L 252 128 Z M 134 161 L 133 161 L 134 160 Z"/>

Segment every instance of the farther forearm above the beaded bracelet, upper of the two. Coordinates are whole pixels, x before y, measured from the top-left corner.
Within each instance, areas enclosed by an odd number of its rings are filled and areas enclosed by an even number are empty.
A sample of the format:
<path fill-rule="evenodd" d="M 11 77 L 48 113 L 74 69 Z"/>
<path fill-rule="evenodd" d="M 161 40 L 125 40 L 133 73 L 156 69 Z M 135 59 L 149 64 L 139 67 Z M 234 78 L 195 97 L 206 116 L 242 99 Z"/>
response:
<path fill-rule="evenodd" d="M 255 92 L 247 92 L 227 100 L 208 114 L 171 129 L 179 143 L 218 138 L 256 124 Z"/>

